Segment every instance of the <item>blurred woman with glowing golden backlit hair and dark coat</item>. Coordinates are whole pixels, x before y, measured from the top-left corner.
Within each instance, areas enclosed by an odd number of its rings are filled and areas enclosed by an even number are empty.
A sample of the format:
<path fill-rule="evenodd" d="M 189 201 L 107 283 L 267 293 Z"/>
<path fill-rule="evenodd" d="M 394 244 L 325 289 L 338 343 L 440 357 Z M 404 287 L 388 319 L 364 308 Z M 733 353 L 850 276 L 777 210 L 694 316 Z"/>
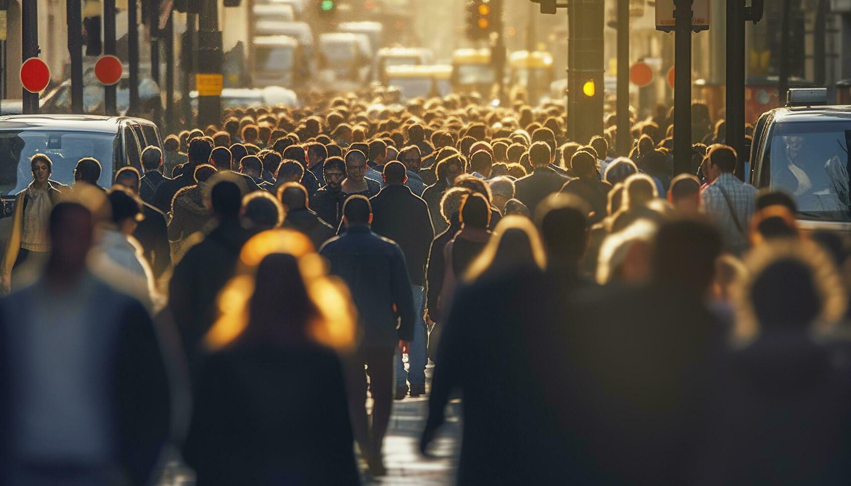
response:
<path fill-rule="evenodd" d="M 359 484 L 346 380 L 330 347 L 352 344 L 348 293 L 300 232 L 262 232 L 240 260 L 223 293 L 230 311 L 204 339 L 184 447 L 197 483 Z"/>

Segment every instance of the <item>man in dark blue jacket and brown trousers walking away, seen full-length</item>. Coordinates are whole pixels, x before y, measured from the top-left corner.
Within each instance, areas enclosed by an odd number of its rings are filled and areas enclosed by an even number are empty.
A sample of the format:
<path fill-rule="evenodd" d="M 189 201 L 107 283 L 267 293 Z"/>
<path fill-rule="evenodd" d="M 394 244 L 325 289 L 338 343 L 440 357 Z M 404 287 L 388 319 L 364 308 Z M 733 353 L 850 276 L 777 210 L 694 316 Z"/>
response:
<path fill-rule="evenodd" d="M 390 422 L 393 402 L 393 360 L 397 346 L 408 352 L 414 336 L 414 295 L 402 249 L 370 229 L 372 207 L 361 195 L 346 199 L 346 232 L 328 240 L 319 250 L 341 277 L 357 306 L 362 340 L 349 366 L 349 408 L 355 438 L 374 476 L 386 474 L 381 444 Z M 366 375 L 372 392 L 373 420 L 368 426 Z"/>

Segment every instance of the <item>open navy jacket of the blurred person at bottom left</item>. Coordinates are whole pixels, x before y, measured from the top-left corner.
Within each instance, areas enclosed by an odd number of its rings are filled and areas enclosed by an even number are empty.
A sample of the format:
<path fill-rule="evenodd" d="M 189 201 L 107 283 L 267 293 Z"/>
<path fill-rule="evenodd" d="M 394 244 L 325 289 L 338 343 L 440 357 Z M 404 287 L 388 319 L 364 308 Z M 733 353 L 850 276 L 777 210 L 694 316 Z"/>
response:
<path fill-rule="evenodd" d="M 99 387 L 98 392 L 105 393 L 110 407 L 106 420 L 111 421 L 111 438 L 115 440 L 113 457 L 129 484 L 141 486 L 151 481 L 169 433 L 171 398 L 160 338 L 163 334 L 155 329 L 139 301 L 90 278 L 92 299 L 83 305 L 89 306 L 92 320 L 103 326 L 91 346 L 105 346 L 108 360 L 104 373 L 92 377 L 92 381 Z M 14 430 L 9 420 L 17 417 L 10 405 L 20 387 L 12 357 L 16 356 L 15 350 L 26 348 L 14 339 L 10 327 L 26 325 L 26 309 L 32 306 L 27 292 L 33 289 L 22 289 L 0 299 L 0 430 L 7 432 Z M 0 434 L 0 477 L 6 477 L 14 465 L 14 455 L 9 451 L 13 439 L 14 434 Z"/>

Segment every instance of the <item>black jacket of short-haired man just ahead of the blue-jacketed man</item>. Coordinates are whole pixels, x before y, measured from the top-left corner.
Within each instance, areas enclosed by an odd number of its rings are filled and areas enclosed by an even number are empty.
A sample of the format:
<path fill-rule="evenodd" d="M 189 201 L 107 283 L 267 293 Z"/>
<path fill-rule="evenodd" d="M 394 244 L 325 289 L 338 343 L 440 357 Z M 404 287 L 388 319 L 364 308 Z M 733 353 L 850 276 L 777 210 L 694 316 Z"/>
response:
<path fill-rule="evenodd" d="M 386 186 L 369 203 L 373 209 L 373 232 L 402 247 L 411 283 L 425 286 L 426 265 L 434 239 L 426 201 L 414 196 L 408 186 L 397 185 Z"/>

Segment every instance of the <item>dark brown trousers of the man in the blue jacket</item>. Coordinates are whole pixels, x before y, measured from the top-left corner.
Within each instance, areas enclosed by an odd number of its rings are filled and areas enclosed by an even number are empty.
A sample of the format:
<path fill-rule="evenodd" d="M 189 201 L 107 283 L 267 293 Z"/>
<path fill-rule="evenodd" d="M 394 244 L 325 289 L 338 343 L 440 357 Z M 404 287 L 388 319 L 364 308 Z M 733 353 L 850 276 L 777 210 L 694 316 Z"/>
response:
<path fill-rule="evenodd" d="M 351 357 L 347 366 L 351 426 L 361 454 L 370 460 L 380 459 L 381 445 L 390 423 L 395 353 L 395 347 L 363 347 Z M 366 373 L 364 364 L 367 366 Z M 372 426 L 369 426 L 367 417 L 367 387 L 373 397 Z"/>

